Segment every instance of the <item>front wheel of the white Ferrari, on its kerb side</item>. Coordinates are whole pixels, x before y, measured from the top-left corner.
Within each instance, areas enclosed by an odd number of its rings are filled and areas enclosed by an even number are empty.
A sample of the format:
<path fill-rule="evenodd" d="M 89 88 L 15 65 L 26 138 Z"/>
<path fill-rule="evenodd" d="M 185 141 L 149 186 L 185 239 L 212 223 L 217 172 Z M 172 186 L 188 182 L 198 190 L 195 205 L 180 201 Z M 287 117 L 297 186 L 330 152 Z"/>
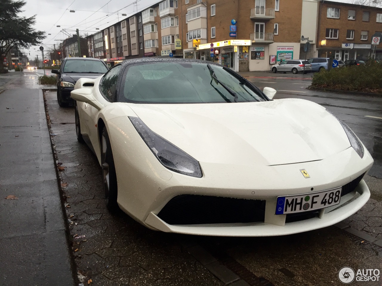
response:
<path fill-rule="evenodd" d="M 113 152 L 110 145 L 109 135 L 106 127 L 102 129 L 101 134 L 101 167 L 102 167 L 102 182 L 105 191 L 105 203 L 110 212 L 119 210 L 117 204 L 117 174 L 113 159 Z"/>

